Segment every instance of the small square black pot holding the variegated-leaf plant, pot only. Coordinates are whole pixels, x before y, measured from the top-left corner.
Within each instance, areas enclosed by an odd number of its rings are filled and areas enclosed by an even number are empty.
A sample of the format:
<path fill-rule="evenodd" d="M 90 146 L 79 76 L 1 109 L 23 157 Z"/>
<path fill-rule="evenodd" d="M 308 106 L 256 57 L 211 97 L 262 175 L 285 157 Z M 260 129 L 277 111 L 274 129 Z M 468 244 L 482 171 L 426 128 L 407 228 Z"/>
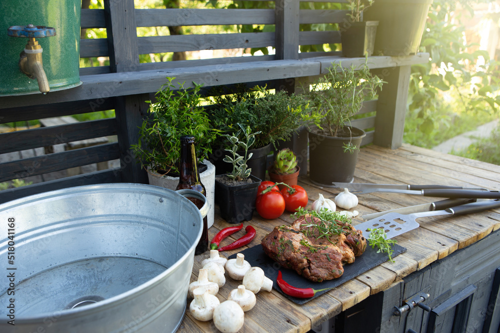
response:
<path fill-rule="evenodd" d="M 220 209 L 220 216 L 228 223 L 249 221 L 255 210 L 255 199 L 260 179 L 250 175 L 252 183 L 228 186 L 215 177 L 215 198 Z"/>

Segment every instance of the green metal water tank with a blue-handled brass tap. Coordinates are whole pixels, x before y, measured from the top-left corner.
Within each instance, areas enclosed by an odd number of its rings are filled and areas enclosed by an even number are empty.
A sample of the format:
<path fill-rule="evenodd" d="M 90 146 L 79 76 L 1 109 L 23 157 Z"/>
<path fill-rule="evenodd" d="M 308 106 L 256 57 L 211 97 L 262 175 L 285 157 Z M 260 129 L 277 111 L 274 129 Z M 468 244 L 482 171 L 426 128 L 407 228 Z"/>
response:
<path fill-rule="evenodd" d="M 81 0 L 37 0 L 26 6 L 18 0 L 0 1 L 0 96 L 41 93 L 41 79 L 28 77 L 19 68 L 21 52 L 41 55 L 49 91 L 81 84 L 80 9 Z M 27 45 L 33 36 L 38 49 Z"/>

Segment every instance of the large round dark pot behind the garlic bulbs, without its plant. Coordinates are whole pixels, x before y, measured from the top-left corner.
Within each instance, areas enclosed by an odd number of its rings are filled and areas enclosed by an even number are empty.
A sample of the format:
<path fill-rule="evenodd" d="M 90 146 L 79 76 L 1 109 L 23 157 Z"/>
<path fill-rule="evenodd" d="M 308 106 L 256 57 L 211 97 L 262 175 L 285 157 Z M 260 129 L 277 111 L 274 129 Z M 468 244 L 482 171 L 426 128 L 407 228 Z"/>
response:
<path fill-rule="evenodd" d="M 354 179 L 358 149 L 344 152 L 349 141 L 361 145 L 366 135 L 363 130 L 351 127 L 351 138 L 330 137 L 309 132 L 309 178 L 314 184 L 332 187 L 333 182 L 350 183 Z"/>

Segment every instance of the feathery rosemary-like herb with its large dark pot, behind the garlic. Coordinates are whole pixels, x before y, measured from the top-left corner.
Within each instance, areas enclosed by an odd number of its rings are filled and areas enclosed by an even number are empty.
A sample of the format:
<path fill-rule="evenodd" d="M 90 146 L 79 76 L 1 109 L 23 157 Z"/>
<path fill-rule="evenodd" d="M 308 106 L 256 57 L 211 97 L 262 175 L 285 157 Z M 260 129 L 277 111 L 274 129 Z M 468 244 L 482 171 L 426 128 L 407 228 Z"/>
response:
<path fill-rule="evenodd" d="M 321 114 L 320 125 L 309 131 L 309 177 L 313 183 L 351 182 L 363 130 L 351 127 L 350 119 L 365 99 L 372 99 L 383 81 L 369 71 L 365 60 L 360 68 L 332 63 L 327 73 L 306 92 Z"/>

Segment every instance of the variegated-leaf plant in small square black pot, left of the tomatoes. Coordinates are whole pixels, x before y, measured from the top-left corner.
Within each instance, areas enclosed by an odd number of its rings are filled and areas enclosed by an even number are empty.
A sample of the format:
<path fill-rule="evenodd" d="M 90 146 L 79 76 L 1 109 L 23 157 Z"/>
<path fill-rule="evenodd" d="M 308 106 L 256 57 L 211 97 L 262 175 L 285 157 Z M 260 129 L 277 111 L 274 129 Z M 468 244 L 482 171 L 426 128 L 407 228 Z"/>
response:
<path fill-rule="evenodd" d="M 246 164 L 252 153 L 248 148 L 255 142 L 255 135 L 250 127 L 238 124 L 240 130 L 233 134 L 224 134 L 230 142 L 226 149 L 229 155 L 224 157 L 224 162 L 232 165 L 232 171 L 225 175 L 215 176 L 215 195 L 220 208 L 220 216 L 229 223 L 249 221 L 255 210 L 260 179 L 251 175 L 251 169 Z M 238 137 L 243 136 L 243 141 Z M 242 155 L 238 153 L 241 149 Z"/>

